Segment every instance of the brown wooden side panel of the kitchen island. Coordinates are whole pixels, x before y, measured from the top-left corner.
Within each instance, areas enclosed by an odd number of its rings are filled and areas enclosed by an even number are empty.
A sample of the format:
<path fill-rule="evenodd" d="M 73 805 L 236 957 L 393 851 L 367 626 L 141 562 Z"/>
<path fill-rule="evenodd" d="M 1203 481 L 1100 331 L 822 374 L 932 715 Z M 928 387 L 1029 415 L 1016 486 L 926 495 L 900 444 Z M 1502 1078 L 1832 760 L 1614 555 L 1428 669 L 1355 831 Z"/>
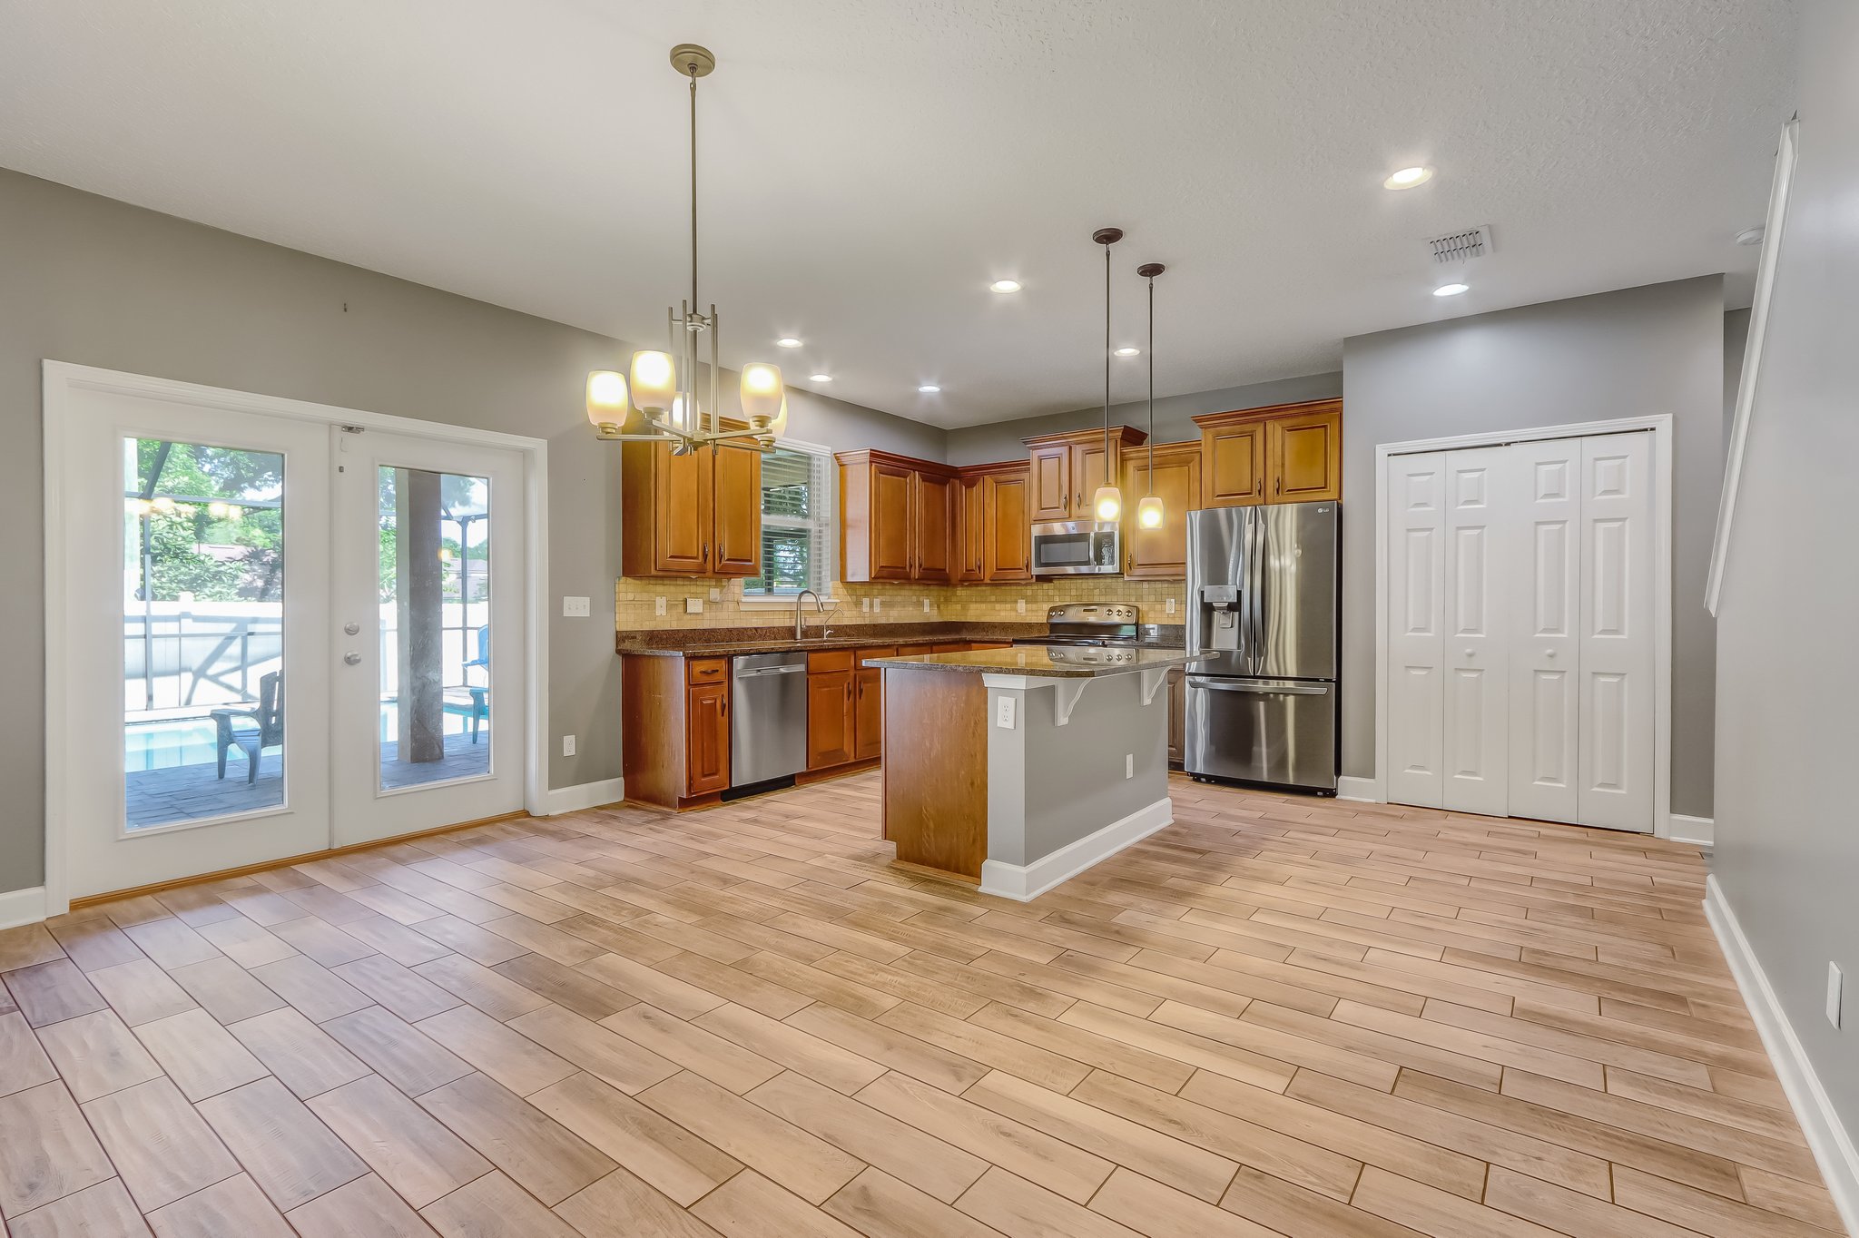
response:
<path fill-rule="evenodd" d="M 974 881 L 987 859 L 987 688 L 885 667 L 885 838 L 907 864 Z"/>

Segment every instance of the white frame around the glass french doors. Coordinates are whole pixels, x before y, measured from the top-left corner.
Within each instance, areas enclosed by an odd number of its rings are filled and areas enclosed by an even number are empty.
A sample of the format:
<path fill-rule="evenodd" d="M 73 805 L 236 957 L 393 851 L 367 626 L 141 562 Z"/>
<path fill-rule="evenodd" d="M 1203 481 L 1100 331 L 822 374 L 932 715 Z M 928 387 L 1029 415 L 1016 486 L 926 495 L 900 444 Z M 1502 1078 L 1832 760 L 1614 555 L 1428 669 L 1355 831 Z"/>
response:
<path fill-rule="evenodd" d="M 309 400 L 286 400 L 255 392 L 204 387 L 177 379 L 80 366 L 67 361 L 43 362 L 45 392 L 45 916 L 71 907 L 65 820 L 65 729 L 71 725 L 59 684 L 71 667 L 73 649 L 65 641 L 65 519 L 63 467 L 65 422 L 71 400 L 80 390 L 100 390 L 145 400 L 169 400 L 229 413 L 286 416 L 325 426 L 363 426 L 385 433 L 450 442 L 472 442 L 521 452 L 522 507 L 526 524 L 526 578 L 522 582 L 528 639 L 524 649 L 526 723 L 522 801 L 535 814 L 547 814 L 548 796 L 548 442 L 493 429 L 446 426 L 411 416 L 342 409 Z M 82 651 L 78 651 L 82 652 Z"/>

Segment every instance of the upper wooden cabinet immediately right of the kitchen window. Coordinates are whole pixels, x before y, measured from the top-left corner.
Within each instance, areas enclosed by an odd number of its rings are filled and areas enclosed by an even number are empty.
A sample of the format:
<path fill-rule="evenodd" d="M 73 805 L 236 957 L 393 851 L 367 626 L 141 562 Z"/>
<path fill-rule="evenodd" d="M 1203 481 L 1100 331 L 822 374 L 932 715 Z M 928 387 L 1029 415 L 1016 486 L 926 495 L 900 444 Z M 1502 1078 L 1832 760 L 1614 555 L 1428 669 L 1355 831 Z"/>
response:
<path fill-rule="evenodd" d="M 889 452 L 840 452 L 838 578 L 956 574 L 956 470 Z"/>

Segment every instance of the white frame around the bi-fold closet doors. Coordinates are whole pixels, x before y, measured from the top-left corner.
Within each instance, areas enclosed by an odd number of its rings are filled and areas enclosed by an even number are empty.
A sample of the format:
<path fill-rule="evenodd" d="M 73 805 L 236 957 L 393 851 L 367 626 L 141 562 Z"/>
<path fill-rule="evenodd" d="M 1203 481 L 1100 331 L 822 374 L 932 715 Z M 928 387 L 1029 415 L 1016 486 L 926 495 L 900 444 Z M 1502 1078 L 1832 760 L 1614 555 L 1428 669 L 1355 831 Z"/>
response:
<path fill-rule="evenodd" d="M 1376 775 L 1348 779 L 1359 790 L 1370 790 L 1374 803 L 1387 803 L 1389 760 L 1389 530 L 1383 519 L 1389 493 L 1389 461 L 1394 455 L 1422 452 L 1459 452 L 1465 448 L 1504 446 L 1508 442 L 1536 442 L 1541 439 L 1586 439 L 1649 429 L 1653 431 L 1653 836 L 1671 836 L 1671 415 L 1621 416 L 1608 422 L 1573 422 L 1567 426 L 1539 426 L 1534 429 L 1495 429 L 1448 439 L 1415 439 L 1411 442 L 1376 444 Z M 1363 786 L 1368 783 L 1370 786 Z"/>

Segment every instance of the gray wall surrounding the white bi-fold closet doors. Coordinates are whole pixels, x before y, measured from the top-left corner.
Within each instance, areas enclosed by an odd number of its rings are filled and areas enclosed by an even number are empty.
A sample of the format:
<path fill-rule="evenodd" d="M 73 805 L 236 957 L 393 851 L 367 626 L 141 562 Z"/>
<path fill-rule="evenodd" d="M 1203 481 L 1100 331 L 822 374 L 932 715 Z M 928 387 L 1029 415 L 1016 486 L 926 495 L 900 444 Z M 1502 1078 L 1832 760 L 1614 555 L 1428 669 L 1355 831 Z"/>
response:
<path fill-rule="evenodd" d="M 1359 335 L 1342 346 L 1342 771 L 1376 771 L 1376 444 L 1669 413 L 1671 810 L 1712 812 L 1716 634 L 1703 608 L 1723 478 L 1723 281 Z"/>

